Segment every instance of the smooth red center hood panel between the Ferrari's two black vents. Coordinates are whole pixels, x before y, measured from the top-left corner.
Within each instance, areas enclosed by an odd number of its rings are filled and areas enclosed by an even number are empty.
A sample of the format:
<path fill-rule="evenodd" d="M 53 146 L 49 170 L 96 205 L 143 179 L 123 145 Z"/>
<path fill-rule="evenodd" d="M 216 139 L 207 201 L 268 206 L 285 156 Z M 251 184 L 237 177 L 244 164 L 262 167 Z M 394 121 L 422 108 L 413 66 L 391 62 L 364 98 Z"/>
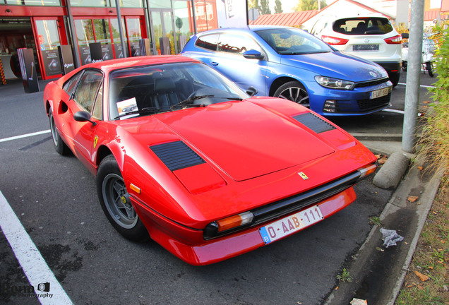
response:
<path fill-rule="evenodd" d="M 236 181 L 334 152 L 292 116 L 249 101 L 224 102 L 153 117 Z"/>

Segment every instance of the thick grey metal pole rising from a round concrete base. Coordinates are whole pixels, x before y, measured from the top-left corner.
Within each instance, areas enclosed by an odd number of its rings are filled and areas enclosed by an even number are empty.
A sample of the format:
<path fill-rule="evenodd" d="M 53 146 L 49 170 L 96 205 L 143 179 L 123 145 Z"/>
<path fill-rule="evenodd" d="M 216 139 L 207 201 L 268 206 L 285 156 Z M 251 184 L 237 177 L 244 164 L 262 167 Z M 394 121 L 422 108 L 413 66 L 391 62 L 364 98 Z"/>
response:
<path fill-rule="evenodd" d="M 416 142 L 421 78 L 422 36 L 424 33 L 424 0 L 412 0 L 407 63 L 407 87 L 405 88 L 404 126 L 402 150 L 412 153 Z"/>

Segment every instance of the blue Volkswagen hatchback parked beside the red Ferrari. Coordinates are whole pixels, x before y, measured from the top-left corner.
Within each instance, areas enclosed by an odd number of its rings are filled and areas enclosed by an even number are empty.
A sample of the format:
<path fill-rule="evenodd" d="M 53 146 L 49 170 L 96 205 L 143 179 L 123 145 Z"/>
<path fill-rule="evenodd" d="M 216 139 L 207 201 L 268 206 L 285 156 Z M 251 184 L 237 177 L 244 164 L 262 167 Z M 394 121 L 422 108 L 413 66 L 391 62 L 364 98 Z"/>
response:
<path fill-rule="evenodd" d="M 390 107 L 385 70 L 333 49 L 297 28 L 251 26 L 194 35 L 181 52 L 258 95 L 292 100 L 325 116 L 361 115 Z"/>

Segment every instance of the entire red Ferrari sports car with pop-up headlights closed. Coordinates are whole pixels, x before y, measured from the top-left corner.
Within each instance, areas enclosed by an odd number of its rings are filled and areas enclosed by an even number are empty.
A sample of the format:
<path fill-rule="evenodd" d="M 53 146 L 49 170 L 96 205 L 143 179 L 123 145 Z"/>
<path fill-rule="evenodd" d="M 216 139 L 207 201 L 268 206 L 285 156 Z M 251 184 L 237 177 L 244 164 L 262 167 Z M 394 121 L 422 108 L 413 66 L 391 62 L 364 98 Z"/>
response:
<path fill-rule="evenodd" d="M 330 217 L 376 170 L 341 128 L 255 93 L 195 59 L 148 56 L 78 68 L 44 105 L 56 151 L 96 175 L 118 232 L 205 265 Z"/>

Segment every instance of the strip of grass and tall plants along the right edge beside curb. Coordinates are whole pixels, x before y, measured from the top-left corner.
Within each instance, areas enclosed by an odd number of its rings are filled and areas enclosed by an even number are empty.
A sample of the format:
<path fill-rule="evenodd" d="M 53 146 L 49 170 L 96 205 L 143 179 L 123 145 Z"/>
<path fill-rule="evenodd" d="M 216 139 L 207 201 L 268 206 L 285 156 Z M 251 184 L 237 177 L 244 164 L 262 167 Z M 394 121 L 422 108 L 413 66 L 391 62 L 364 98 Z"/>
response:
<path fill-rule="evenodd" d="M 442 178 L 396 305 L 449 305 L 449 29 L 433 32 L 442 37 L 436 88 L 430 90 L 435 102 L 417 143 L 417 160 L 426 160 L 423 169 Z"/>

